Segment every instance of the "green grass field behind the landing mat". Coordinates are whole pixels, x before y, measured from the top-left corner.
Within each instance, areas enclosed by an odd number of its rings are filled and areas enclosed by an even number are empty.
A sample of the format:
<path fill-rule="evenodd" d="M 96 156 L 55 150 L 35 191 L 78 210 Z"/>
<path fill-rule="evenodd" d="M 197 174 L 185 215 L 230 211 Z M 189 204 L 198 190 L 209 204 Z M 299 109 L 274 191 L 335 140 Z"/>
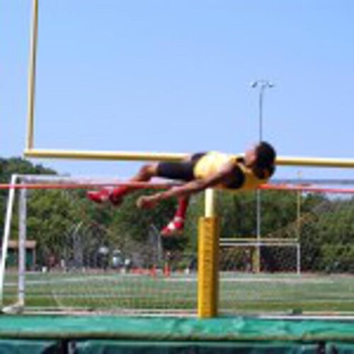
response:
<path fill-rule="evenodd" d="M 353 313 L 351 275 L 222 273 L 221 313 Z M 25 305 L 30 310 L 188 313 L 197 309 L 197 275 L 28 273 Z M 8 274 L 4 304 L 16 299 L 16 274 Z"/>

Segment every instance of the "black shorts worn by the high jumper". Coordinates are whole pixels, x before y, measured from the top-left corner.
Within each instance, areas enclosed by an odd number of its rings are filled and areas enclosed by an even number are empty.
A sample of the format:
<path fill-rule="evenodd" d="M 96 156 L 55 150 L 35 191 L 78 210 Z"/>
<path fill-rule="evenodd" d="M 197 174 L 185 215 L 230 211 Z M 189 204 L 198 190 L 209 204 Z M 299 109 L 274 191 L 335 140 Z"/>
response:
<path fill-rule="evenodd" d="M 157 176 L 186 182 L 193 181 L 194 166 L 204 155 L 205 152 L 198 152 L 198 154 L 193 154 L 188 161 L 160 162 L 157 165 Z"/>

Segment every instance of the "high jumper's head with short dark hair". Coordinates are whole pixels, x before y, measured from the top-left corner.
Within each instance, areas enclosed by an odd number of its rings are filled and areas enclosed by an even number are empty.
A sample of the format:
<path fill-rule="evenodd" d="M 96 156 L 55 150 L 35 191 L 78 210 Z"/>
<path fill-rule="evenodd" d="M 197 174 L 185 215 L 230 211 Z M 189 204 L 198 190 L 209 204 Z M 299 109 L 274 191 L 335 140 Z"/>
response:
<path fill-rule="evenodd" d="M 246 165 L 261 178 L 268 178 L 274 173 L 275 158 L 275 149 L 268 142 L 259 142 L 245 154 Z"/>

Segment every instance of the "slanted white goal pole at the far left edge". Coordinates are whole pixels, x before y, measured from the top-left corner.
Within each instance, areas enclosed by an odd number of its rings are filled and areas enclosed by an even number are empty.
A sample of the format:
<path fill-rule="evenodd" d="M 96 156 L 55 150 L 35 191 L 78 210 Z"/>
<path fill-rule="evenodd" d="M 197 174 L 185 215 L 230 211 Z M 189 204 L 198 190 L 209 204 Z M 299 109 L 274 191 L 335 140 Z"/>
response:
<path fill-rule="evenodd" d="M 11 185 L 16 184 L 17 175 L 13 174 L 11 176 Z M 1 246 L 1 261 L 0 261 L 0 305 L 4 305 L 4 278 L 5 278 L 5 267 L 6 267 L 6 256 L 8 250 L 8 239 L 10 239 L 11 231 L 11 219 L 12 219 L 12 210 L 13 202 L 15 200 L 15 188 L 10 188 L 8 190 L 8 200 L 6 207 L 6 217 L 4 225 L 4 236 L 2 238 Z"/>

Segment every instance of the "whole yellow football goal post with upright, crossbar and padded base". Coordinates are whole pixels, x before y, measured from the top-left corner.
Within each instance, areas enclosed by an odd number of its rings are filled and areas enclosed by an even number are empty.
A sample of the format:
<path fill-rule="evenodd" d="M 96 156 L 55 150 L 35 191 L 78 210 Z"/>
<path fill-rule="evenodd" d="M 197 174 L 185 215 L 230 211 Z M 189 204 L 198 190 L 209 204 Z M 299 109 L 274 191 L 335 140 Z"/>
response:
<path fill-rule="evenodd" d="M 38 149 L 35 147 L 35 74 L 38 46 L 38 11 L 39 0 L 33 0 L 32 25 L 30 30 L 30 53 L 28 64 L 28 119 L 24 156 L 30 158 L 50 159 L 88 159 L 105 161 L 181 161 L 186 154 L 164 152 L 125 152 L 125 151 L 78 151 L 66 149 Z M 279 156 L 279 166 L 312 166 L 353 168 L 354 159 L 289 157 Z M 210 193 L 210 194 L 208 194 Z M 217 253 L 218 253 L 218 219 L 213 208 L 212 192 L 207 192 L 206 215 L 200 219 L 200 287 L 202 292 L 198 299 L 200 317 L 217 315 Z M 205 253 L 204 253 L 205 252 Z M 204 268 L 203 268 L 204 267 Z M 208 280 L 209 279 L 209 280 Z M 209 285 L 207 285 L 209 281 Z M 203 294 L 203 295 L 202 295 Z M 207 297 L 207 299 L 205 299 Z"/>

